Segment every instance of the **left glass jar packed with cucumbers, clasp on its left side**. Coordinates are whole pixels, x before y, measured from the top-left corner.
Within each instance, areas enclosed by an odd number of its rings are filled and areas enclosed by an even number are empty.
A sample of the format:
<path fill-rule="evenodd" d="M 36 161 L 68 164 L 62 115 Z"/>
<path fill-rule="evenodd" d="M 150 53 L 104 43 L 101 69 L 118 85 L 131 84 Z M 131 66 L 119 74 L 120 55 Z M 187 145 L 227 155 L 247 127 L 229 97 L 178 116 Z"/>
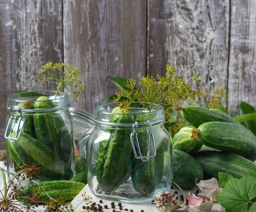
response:
<path fill-rule="evenodd" d="M 36 91 L 8 97 L 6 156 L 9 171 L 34 163 L 37 178 L 69 180 L 74 176 L 74 141 L 70 100 L 66 93 Z"/>

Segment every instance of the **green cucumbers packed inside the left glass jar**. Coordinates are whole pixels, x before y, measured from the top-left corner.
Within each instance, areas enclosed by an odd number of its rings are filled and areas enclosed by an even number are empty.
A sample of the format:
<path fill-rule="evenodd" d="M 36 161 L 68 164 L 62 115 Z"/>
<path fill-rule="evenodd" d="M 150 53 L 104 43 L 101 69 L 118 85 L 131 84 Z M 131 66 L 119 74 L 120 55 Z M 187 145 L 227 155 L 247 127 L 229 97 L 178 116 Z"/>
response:
<path fill-rule="evenodd" d="M 29 109 L 56 107 L 46 96 L 39 97 L 34 106 L 28 103 L 19 103 L 17 106 Z M 32 162 L 42 168 L 37 176 L 39 180 L 70 180 L 73 177 L 74 145 L 61 114 L 46 111 L 24 116 L 26 121 L 20 138 L 14 142 L 7 140 L 15 168 Z"/>

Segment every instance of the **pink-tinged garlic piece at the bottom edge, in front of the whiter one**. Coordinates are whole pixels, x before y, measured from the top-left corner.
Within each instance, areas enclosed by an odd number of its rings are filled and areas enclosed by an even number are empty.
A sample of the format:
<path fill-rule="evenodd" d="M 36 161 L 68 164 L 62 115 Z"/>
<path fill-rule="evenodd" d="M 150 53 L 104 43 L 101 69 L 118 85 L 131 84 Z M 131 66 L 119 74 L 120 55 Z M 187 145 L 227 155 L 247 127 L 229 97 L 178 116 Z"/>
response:
<path fill-rule="evenodd" d="M 213 206 L 212 198 L 197 197 L 189 192 L 189 212 L 210 212 Z"/>

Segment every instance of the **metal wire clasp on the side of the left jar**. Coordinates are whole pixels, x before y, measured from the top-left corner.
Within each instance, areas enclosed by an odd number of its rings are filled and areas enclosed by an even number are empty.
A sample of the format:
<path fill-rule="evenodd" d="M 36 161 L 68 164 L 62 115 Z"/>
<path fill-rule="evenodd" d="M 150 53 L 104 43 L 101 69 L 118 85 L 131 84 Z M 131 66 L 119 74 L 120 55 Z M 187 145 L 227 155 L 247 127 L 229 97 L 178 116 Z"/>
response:
<path fill-rule="evenodd" d="M 20 138 L 20 134 L 21 134 L 21 131 L 23 129 L 23 126 L 24 126 L 24 122 L 26 120 L 26 117 L 22 115 L 22 111 L 21 111 L 21 107 L 19 107 L 18 109 L 15 109 L 13 107 L 9 107 L 9 121 L 7 123 L 7 126 L 6 126 L 6 131 L 5 131 L 5 134 L 4 134 L 4 137 L 6 139 L 9 139 L 10 142 L 14 142 L 15 140 L 19 139 Z M 12 120 L 15 119 L 15 116 L 14 114 L 11 114 L 12 112 L 18 112 L 20 113 L 20 118 L 18 119 L 18 127 L 17 127 L 17 134 L 15 135 L 15 137 L 12 137 Z M 10 129 L 10 136 L 8 136 L 8 131 Z"/>

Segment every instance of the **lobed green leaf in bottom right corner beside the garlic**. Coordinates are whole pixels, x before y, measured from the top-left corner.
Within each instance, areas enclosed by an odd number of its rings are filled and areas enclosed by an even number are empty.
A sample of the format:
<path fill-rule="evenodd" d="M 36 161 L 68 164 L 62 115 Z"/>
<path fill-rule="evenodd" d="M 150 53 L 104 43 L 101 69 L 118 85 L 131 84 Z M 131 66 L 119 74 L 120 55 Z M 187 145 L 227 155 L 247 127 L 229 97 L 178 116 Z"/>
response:
<path fill-rule="evenodd" d="M 241 179 L 230 177 L 216 199 L 226 212 L 242 212 L 254 197 L 256 197 L 256 177 L 245 175 Z"/>

